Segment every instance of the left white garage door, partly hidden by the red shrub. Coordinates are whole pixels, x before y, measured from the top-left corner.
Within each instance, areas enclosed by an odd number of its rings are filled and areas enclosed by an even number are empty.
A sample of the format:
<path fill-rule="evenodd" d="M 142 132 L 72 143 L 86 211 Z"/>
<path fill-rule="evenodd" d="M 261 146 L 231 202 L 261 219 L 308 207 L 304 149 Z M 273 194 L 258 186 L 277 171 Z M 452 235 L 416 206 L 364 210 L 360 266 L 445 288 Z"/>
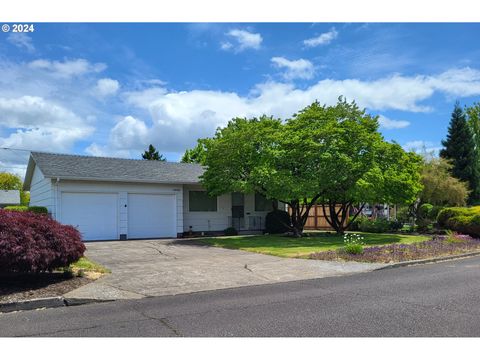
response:
<path fill-rule="evenodd" d="M 63 192 L 61 222 L 73 225 L 84 240 L 118 239 L 117 194 Z"/>

